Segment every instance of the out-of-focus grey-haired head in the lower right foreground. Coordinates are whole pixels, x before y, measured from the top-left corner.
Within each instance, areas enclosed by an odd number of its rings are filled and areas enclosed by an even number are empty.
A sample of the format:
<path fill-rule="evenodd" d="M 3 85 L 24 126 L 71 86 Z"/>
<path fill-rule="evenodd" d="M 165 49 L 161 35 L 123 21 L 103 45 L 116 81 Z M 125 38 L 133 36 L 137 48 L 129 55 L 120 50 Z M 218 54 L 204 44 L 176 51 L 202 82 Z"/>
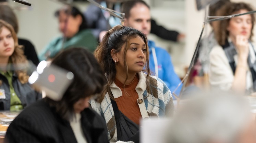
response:
<path fill-rule="evenodd" d="M 170 143 L 235 143 L 250 117 L 245 96 L 224 91 L 200 92 L 174 115 Z"/>

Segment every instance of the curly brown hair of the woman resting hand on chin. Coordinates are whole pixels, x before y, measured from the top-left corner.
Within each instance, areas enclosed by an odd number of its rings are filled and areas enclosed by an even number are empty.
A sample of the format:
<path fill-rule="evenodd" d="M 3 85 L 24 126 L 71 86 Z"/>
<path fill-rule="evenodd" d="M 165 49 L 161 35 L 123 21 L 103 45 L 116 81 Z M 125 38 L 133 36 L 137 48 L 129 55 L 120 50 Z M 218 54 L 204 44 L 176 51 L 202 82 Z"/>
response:
<path fill-rule="evenodd" d="M 227 15 L 232 15 L 236 14 L 240 10 L 247 10 L 247 11 L 253 11 L 252 7 L 244 2 L 239 2 L 239 3 L 226 3 L 222 8 L 217 12 L 218 16 L 227 16 Z M 249 39 L 252 41 L 252 36 L 253 36 L 253 28 L 254 28 L 254 23 L 255 23 L 255 17 L 254 14 L 250 14 L 252 18 L 252 29 L 251 29 L 251 35 Z M 218 22 L 217 28 L 215 31 L 215 37 L 219 45 L 224 45 L 225 41 L 228 39 L 229 36 L 229 31 L 227 30 L 227 27 L 229 26 L 229 21 L 230 19 L 225 19 L 221 21 L 216 21 Z"/>

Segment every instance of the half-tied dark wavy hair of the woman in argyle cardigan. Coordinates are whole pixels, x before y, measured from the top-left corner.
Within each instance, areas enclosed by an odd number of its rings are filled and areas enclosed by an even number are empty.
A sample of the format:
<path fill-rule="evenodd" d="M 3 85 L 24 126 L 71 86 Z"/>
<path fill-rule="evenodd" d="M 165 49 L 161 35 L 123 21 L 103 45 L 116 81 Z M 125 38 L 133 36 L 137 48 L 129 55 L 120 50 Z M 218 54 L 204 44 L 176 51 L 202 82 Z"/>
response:
<path fill-rule="evenodd" d="M 117 70 L 115 69 L 115 62 L 111 57 L 111 50 L 114 49 L 116 53 L 120 52 L 123 45 L 125 45 L 124 54 L 123 54 L 124 66 L 126 71 L 126 73 L 124 73 L 126 74 L 126 79 L 124 81 L 124 85 L 125 85 L 125 82 L 128 79 L 128 66 L 126 63 L 126 52 L 130 45 L 129 40 L 137 36 L 141 37 L 144 43 L 146 44 L 147 59 L 145 63 L 146 64 L 145 72 L 150 73 L 149 65 L 148 65 L 149 50 L 148 50 L 148 44 L 147 44 L 147 37 L 142 32 L 136 29 L 133 29 L 130 27 L 124 27 L 121 25 L 115 26 L 104 35 L 102 42 L 94 51 L 94 55 L 98 60 L 98 62 L 100 63 L 101 67 L 103 68 L 108 81 L 108 83 L 106 84 L 102 92 L 102 96 L 104 96 L 108 92 L 108 94 L 110 95 L 110 98 L 114 99 L 110 91 L 110 85 L 114 82 L 115 76 L 117 74 Z M 149 75 L 150 74 L 147 74 L 146 76 L 146 85 L 147 85 L 147 92 L 151 93 L 149 91 Z"/>

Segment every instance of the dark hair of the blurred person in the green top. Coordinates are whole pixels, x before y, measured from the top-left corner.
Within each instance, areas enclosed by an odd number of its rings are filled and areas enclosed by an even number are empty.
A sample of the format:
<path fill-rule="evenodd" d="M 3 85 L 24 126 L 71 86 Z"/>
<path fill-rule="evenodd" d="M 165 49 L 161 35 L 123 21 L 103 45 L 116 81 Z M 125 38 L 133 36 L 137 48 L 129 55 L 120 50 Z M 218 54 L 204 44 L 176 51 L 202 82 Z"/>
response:
<path fill-rule="evenodd" d="M 59 17 L 60 11 L 64 12 L 64 13 L 67 14 L 67 15 L 70 15 L 70 16 L 72 16 L 72 17 L 76 17 L 76 16 L 78 16 L 78 15 L 80 15 L 80 16 L 82 17 L 82 23 L 81 23 L 81 25 L 80 25 L 80 27 L 79 27 L 79 31 L 88 28 L 88 26 L 87 26 L 87 21 L 86 21 L 86 19 L 85 19 L 85 16 L 83 15 L 83 13 L 82 13 L 80 10 L 78 10 L 77 7 L 72 6 L 72 5 L 65 5 L 65 6 L 62 7 L 61 9 L 57 10 L 57 11 L 54 13 L 54 15 L 55 15 L 56 17 Z"/>

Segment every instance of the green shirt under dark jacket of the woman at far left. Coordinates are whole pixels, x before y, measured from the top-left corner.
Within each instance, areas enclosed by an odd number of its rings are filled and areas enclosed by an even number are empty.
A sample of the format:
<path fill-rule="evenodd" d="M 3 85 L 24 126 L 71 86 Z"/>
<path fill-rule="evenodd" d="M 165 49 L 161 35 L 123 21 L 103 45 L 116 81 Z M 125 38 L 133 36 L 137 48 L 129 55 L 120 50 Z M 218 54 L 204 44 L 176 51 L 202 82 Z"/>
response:
<path fill-rule="evenodd" d="M 12 86 L 12 76 L 13 72 L 3 72 L 0 71 L 0 73 L 5 76 L 8 80 L 9 86 L 10 86 L 10 111 L 20 111 L 23 109 L 23 106 L 21 104 L 20 98 L 17 96 L 17 94 L 14 91 L 14 88 Z"/>

